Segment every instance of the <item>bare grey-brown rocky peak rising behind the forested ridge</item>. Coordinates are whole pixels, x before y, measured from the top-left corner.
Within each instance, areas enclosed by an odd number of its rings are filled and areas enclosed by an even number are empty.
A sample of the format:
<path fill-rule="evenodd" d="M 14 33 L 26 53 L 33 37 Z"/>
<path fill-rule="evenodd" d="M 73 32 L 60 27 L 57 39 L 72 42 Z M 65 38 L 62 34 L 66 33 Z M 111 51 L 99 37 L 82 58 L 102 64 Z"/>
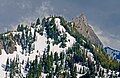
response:
<path fill-rule="evenodd" d="M 102 42 L 99 40 L 97 35 L 94 33 L 93 29 L 87 23 L 87 18 L 84 14 L 81 14 L 79 17 L 73 19 L 78 32 L 87 38 L 91 43 L 103 47 Z"/>

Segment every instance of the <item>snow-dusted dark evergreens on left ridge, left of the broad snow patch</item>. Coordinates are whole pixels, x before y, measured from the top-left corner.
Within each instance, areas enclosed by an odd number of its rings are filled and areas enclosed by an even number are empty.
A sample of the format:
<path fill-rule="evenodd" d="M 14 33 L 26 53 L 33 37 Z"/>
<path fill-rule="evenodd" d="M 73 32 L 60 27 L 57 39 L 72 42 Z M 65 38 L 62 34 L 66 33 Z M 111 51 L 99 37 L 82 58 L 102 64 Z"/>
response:
<path fill-rule="evenodd" d="M 19 45 L 22 46 L 22 53 L 29 53 L 35 49 L 33 44 L 37 40 L 36 33 L 43 35 L 43 27 L 40 24 L 40 19 L 38 18 L 36 23 L 32 23 L 31 26 L 18 25 L 17 32 L 22 32 L 22 34 L 15 34 L 15 40 Z"/>

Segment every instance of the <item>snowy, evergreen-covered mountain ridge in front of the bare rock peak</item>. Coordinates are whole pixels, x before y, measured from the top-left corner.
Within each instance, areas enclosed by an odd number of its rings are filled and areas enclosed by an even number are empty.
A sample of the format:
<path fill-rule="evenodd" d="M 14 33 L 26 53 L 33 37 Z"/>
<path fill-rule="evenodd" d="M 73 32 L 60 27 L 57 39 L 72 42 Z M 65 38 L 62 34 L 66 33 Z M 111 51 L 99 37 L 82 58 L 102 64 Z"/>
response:
<path fill-rule="evenodd" d="M 118 77 L 118 63 L 103 53 L 63 17 L 38 18 L 0 35 L 0 78 Z"/>

